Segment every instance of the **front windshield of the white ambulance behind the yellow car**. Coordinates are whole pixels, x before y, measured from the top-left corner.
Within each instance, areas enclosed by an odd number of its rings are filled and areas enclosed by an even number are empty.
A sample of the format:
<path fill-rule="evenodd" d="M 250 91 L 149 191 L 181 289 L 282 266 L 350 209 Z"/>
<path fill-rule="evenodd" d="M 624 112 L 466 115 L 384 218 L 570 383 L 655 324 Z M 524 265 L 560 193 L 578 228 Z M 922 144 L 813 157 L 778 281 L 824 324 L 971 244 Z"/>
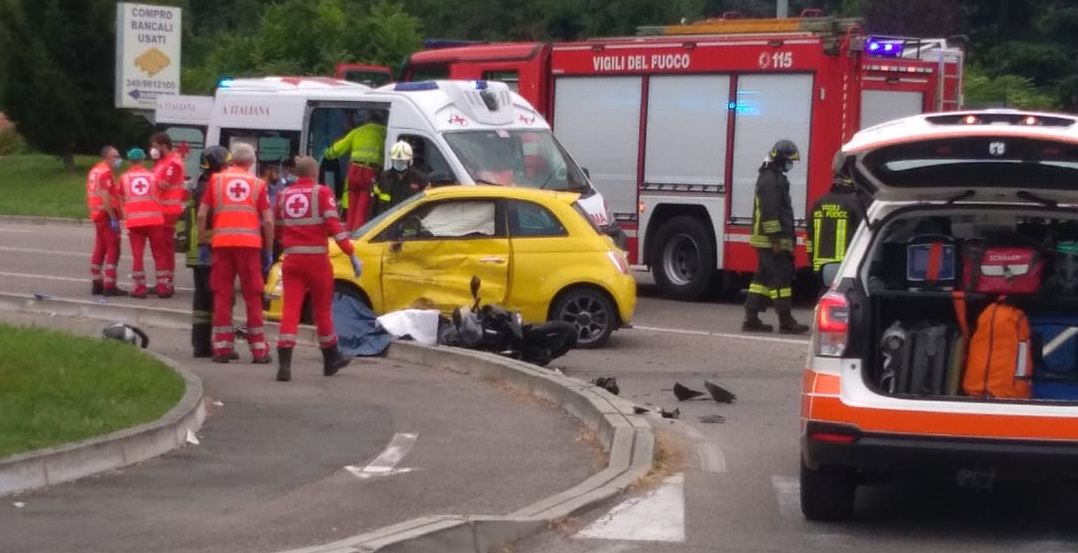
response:
<path fill-rule="evenodd" d="M 584 192 L 583 171 L 549 129 L 458 130 L 445 141 L 480 184 Z"/>

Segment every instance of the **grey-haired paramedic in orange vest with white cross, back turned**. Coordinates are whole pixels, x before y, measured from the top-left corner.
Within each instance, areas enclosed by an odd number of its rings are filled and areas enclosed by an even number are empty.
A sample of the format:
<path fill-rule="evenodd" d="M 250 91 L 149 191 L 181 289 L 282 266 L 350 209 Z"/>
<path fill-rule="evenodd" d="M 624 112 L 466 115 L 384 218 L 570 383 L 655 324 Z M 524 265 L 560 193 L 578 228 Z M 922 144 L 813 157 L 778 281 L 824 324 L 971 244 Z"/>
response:
<path fill-rule="evenodd" d="M 198 206 L 198 244 L 212 248 L 209 278 L 213 291 L 215 363 L 227 363 L 235 349 L 232 299 L 237 276 L 247 306 L 247 343 L 253 362 L 273 361 L 262 321 L 263 275 L 272 260 L 273 213 L 265 182 L 251 175 L 254 161 L 250 144 L 232 147 L 232 166 L 213 175 Z M 210 217 L 212 230 L 208 230 Z"/>

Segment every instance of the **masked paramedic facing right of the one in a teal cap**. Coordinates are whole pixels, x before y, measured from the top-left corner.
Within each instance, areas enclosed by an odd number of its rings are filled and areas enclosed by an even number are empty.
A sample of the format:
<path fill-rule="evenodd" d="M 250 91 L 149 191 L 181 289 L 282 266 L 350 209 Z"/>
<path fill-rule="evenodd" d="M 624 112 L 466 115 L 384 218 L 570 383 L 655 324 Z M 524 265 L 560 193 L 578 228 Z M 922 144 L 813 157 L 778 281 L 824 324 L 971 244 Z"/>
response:
<path fill-rule="evenodd" d="M 161 211 L 165 216 L 161 239 L 165 247 L 165 286 L 168 293 L 162 298 L 168 298 L 176 293 L 176 222 L 183 216 L 189 194 L 183 185 L 183 157 L 172 150 L 172 138 L 168 133 L 150 137 L 150 157 L 157 161 L 153 175 L 161 186 Z"/>

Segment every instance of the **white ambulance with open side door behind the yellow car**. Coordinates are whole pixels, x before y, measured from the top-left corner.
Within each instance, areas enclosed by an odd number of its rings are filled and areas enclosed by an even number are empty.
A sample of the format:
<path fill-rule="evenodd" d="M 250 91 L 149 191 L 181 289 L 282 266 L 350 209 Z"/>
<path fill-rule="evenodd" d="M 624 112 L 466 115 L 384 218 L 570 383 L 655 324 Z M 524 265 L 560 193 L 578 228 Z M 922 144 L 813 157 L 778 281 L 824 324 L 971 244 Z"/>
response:
<path fill-rule="evenodd" d="M 254 147 L 259 165 L 298 154 L 322 163 L 320 179 L 343 192 L 348 155 L 327 147 L 371 116 L 387 123 L 386 160 L 398 140 L 432 184 L 510 184 L 581 194 L 605 231 L 613 218 L 584 171 L 536 109 L 501 82 L 423 81 L 369 86 L 329 78 L 224 79 L 217 88 L 206 143 Z M 607 231 L 611 237 L 617 236 Z M 619 244 L 624 247 L 623 237 Z M 616 238 L 617 241 L 617 238 Z"/>

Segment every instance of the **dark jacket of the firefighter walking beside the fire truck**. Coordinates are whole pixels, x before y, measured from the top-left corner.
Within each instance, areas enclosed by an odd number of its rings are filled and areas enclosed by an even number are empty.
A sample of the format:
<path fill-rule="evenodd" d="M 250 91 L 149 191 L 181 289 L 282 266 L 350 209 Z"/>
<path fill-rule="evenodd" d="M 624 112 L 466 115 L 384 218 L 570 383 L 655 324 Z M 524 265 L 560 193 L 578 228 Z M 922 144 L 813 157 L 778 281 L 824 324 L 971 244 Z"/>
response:
<path fill-rule="evenodd" d="M 790 202 L 790 180 L 778 167 L 768 164 L 756 180 L 756 209 L 752 212 L 752 234 L 749 246 L 771 248 L 777 241 L 786 251 L 793 251 L 793 205 Z"/>

